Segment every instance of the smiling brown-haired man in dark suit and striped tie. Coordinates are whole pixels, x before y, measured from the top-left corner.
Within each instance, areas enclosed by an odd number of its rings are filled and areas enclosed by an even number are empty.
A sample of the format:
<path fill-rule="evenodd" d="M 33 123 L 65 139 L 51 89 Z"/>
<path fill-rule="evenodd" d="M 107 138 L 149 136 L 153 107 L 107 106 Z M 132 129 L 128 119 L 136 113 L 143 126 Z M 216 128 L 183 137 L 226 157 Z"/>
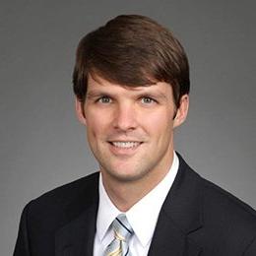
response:
<path fill-rule="evenodd" d="M 173 151 L 189 106 L 178 40 L 127 15 L 87 34 L 73 76 L 76 112 L 99 172 L 33 200 L 15 256 L 255 256 L 253 209 Z"/>

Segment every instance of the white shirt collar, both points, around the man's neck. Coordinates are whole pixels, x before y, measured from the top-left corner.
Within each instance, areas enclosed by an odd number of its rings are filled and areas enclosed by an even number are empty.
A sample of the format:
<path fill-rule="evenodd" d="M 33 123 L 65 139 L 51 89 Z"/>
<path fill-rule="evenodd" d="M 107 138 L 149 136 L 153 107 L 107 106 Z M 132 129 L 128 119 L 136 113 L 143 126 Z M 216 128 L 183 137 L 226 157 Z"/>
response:
<path fill-rule="evenodd" d="M 171 167 L 160 183 L 125 213 L 129 224 L 143 246 L 147 246 L 152 240 L 160 208 L 177 174 L 178 165 L 179 160 L 174 152 Z M 98 191 L 96 233 L 99 240 L 102 241 L 109 225 L 121 212 L 109 199 L 102 183 L 101 174 L 99 175 Z"/>

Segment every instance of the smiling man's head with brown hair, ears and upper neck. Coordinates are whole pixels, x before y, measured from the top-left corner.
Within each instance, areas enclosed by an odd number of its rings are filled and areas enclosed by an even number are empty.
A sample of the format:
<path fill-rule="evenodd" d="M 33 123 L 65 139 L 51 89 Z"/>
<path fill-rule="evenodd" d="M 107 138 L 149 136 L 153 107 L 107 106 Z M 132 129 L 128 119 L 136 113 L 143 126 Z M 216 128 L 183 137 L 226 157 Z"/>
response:
<path fill-rule="evenodd" d="M 188 73 L 182 46 L 149 18 L 119 16 L 82 39 L 76 110 L 105 187 L 136 184 L 145 194 L 166 174 L 173 129 L 188 112 Z"/>

